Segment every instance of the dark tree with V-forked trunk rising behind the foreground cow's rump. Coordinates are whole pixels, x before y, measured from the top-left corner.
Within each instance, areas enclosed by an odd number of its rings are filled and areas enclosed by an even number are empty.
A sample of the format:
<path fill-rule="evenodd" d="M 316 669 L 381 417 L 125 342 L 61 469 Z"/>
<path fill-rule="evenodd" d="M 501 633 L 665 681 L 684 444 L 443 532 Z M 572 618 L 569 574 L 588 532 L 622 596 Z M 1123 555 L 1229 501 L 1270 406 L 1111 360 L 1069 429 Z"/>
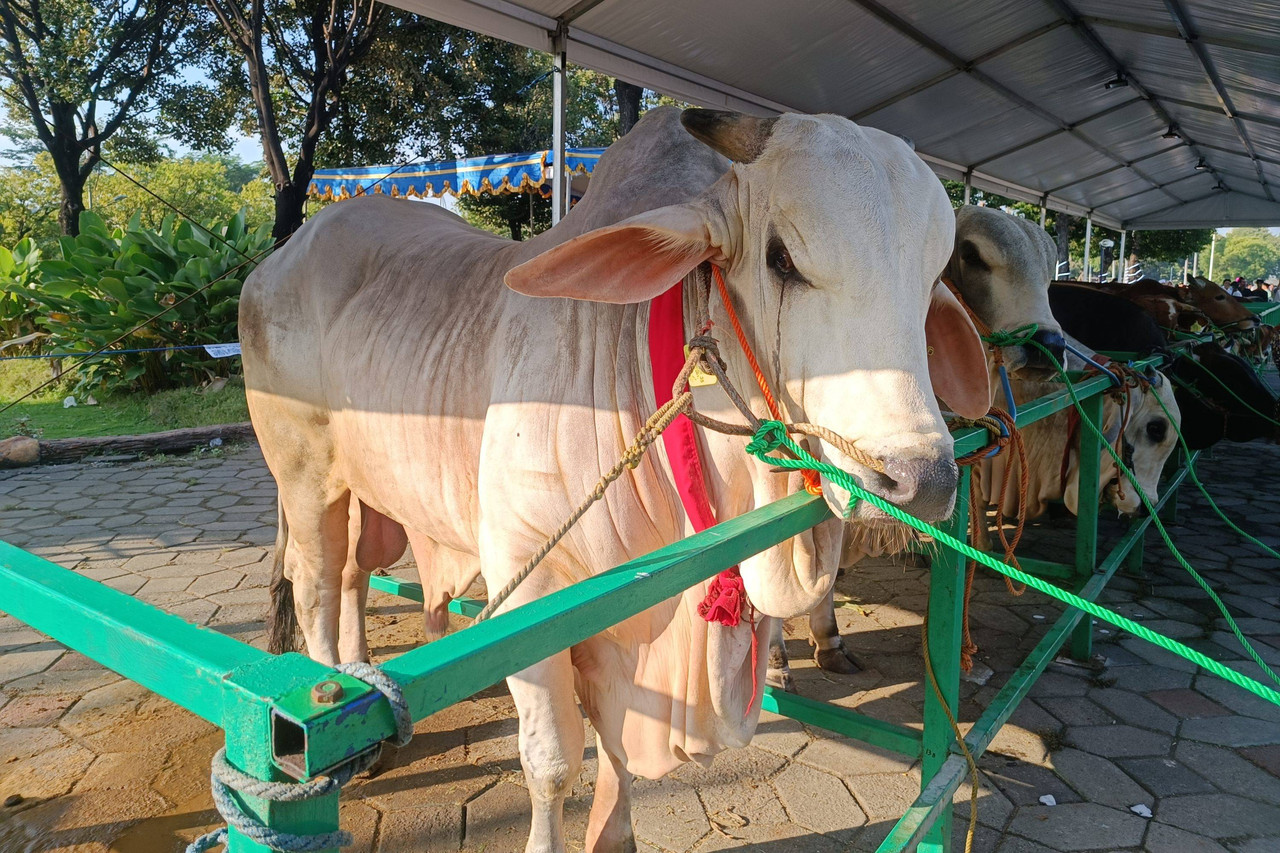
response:
<path fill-rule="evenodd" d="M 351 0 L 349 6 L 338 0 L 205 1 L 244 63 L 275 186 L 271 236 L 283 240 L 302 225 L 316 147 L 339 111 L 352 68 L 387 32 L 388 8 L 375 0 Z M 225 68 L 212 70 L 225 87 Z M 287 142 L 294 152 L 292 168 Z"/>

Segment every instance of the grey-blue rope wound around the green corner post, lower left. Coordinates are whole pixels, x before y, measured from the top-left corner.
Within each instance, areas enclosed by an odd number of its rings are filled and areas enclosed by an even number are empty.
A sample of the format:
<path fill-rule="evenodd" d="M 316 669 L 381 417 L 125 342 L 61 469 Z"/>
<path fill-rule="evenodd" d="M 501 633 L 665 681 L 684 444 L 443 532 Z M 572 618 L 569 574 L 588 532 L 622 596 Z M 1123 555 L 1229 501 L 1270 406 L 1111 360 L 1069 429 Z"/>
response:
<path fill-rule="evenodd" d="M 349 675 L 357 681 L 367 684 L 387 698 L 387 702 L 392 707 L 392 715 L 396 719 L 396 736 L 389 738 L 392 744 L 403 747 L 412 740 L 413 716 L 410 712 L 403 690 L 401 690 L 399 684 L 393 678 L 372 663 L 365 662 L 339 663 L 333 669 L 337 672 Z M 366 749 L 324 776 L 316 776 L 303 783 L 293 783 L 268 781 L 250 776 L 227 760 L 225 748 L 219 749 L 214 753 L 210 775 L 214 806 L 228 826 L 234 827 L 238 833 L 262 847 L 279 850 L 280 853 L 315 853 L 351 847 L 353 843 L 351 833 L 344 830 L 316 835 L 294 835 L 274 830 L 247 815 L 236 800 L 236 795 L 253 797 L 273 803 L 297 803 L 317 797 L 326 797 L 340 790 L 348 781 L 369 770 L 378 761 L 380 753 L 381 745 L 375 744 L 374 748 Z M 206 853 L 206 850 L 211 850 L 219 844 L 227 844 L 227 839 L 228 829 L 224 826 L 201 835 L 188 844 L 187 853 Z"/>

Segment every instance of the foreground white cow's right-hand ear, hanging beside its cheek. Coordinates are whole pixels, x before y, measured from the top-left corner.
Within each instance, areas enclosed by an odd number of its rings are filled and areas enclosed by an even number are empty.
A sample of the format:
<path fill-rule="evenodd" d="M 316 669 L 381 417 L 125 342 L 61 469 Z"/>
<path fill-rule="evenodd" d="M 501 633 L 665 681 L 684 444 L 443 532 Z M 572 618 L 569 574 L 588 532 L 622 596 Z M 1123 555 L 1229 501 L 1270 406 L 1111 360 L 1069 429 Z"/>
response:
<path fill-rule="evenodd" d="M 991 407 L 987 351 L 969 314 L 951 291 L 933 286 L 924 319 L 933 393 L 961 418 L 982 418 Z"/>

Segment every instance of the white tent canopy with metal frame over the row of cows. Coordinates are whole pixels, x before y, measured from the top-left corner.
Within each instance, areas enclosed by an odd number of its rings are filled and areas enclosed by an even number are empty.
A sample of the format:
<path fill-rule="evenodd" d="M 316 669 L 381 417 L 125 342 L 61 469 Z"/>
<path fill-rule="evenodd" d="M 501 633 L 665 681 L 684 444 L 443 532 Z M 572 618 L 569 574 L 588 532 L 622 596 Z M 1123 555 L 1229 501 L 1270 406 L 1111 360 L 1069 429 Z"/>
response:
<path fill-rule="evenodd" d="M 1112 228 L 1280 224 L 1277 0 L 393 3 L 703 106 L 847 115 Z"/>

